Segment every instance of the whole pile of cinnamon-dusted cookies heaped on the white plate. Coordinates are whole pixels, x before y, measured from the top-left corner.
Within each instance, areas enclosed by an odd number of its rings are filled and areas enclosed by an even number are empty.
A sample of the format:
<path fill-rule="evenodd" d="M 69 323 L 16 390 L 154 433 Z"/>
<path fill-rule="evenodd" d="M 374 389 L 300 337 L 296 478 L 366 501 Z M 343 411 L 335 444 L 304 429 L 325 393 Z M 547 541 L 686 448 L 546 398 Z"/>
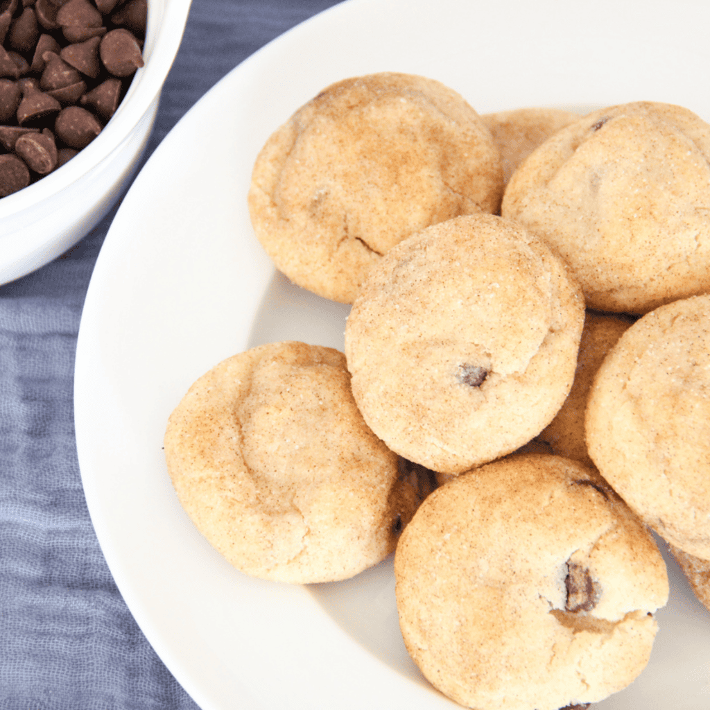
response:
<path fill-rule="evenodd" d="M 668 596 L 650 530 L 710 596 L 709 163 L 710 126 L 668 104 L 324 89 L 249 209 L 280 271 L 352 305 L 345 351 L 260 346 L 195 383 L 165 452 L 197 528 L 296 583 L 396 549 L 405 645 L 464 706 L 626 687 Z"/>

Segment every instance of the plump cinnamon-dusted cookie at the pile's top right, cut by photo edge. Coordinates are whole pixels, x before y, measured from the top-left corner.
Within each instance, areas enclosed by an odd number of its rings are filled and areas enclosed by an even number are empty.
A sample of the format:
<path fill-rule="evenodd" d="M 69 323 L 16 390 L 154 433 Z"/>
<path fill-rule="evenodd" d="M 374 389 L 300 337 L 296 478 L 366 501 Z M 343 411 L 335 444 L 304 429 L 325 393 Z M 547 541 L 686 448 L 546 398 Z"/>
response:
<path fill-rule="evenodd" d="M 710 290 L 710 124 L 634 102 L 557 131 L 510 178 L 501 214 L 557 250 L 588 307 L 645 313 Z"/>

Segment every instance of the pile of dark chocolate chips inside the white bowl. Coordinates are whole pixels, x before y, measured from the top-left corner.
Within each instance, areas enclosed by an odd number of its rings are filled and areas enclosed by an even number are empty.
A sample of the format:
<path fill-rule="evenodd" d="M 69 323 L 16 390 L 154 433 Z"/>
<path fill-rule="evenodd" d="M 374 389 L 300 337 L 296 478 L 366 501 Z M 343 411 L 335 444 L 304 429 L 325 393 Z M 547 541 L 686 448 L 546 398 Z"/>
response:
<path fill-rule="evenodd" d="M 143 66 L 147 0 L 0 0 L 0 197 L 98 136 Z"/>

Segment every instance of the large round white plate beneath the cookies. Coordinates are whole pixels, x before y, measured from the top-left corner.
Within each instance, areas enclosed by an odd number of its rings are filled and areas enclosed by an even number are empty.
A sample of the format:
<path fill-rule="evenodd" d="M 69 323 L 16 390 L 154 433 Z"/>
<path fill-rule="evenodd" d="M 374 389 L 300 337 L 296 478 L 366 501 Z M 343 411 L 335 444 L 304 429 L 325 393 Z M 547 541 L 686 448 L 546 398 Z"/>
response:
<path fill-rule="evenodd" d="M 275 40 L 165 138 L 119 209 L 76 360 L 79 460 L 126 603 L 203 710 L 436 709 L 398 630 L 391 560 L 349 581 L 250 579 L 212 550 L 165 471 L 165 422 L 226 356 L 299 339 L 342 349 L 347 308 L 273 271 L 246 210 L 268 135 L 324 86 L 436 78 L 481 113 L 650 99 L 710 119 L 710 4 L 351 0 Z M 706 710 L 710 615 L 670 563 L 650 664 L 599 710 Z"/>

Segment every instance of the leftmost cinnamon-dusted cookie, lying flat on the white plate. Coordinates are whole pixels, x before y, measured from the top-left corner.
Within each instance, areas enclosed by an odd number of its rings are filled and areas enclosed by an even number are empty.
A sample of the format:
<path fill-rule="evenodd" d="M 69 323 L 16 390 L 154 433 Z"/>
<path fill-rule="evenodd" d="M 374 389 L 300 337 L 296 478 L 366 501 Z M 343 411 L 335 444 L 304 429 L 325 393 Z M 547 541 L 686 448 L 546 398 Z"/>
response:
<path fill-rule="evenodd" d="M 246 574 L 345 579 L 393 552 L 417 507 L 412 471 L 368 429 L 342 353 L 258 346 L 195 382 L 165 434 L 195 526 Z"/>

